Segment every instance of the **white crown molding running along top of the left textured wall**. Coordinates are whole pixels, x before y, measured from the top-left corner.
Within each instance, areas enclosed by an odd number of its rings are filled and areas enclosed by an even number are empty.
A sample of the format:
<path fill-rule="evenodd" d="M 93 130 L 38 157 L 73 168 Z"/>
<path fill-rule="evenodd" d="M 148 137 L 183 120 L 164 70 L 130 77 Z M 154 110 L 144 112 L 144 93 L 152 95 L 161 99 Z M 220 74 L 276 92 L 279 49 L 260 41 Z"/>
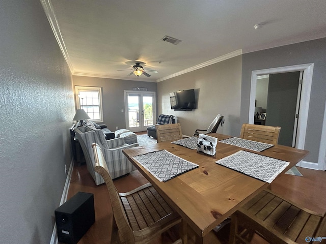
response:
<path fill-rule="evenodd" d="M 68 67 L 70 69 L 70 72 L 73 74 L 74 69 L 73 69 L 73 66 L 72 66 L 72 63 L 71 63 L 71 60 L 70 60 L 70 57 L 69 57 L 65 42 L 64 42 L 63 37 L 61 35 L 60 27 L 59 27 L 59 24 L 58 24 L 58 20 L 57 20 L 55 11 L 53 10 L 52 3 L 51 3 L 50 0 L 40 0 L 40 2 L 42 4 L 42 6 L 43 6 L 45 15 L 46 15 L 46 17 L 47 17 L 47 19 L 48 19 L 48 21 L 50 23 L 53 34 L 55 35 L 55 37 L 57 39 L 57 42 L 58 42 L 59 47 L 61 49 L 61 52 L 62 52 L 64 58 L 66 59 L 66 62 L 67 62 Z"/>

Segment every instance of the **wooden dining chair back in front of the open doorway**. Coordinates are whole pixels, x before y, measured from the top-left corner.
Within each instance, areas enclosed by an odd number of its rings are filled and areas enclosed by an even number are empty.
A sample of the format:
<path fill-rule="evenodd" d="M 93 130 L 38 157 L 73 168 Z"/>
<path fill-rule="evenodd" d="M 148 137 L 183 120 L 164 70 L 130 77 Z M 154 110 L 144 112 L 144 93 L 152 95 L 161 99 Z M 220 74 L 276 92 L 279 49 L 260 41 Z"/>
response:
<path fill-rule="evenodd" d="M 276 145 L 281 127 L 243 124 L 240 138 Z"/>

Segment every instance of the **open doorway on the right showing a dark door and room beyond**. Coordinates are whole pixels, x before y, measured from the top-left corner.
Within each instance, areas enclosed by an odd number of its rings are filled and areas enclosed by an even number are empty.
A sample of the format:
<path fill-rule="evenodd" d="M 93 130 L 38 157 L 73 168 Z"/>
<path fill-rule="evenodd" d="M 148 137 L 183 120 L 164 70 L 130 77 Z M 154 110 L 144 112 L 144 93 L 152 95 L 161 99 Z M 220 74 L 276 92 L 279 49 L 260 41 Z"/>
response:
<path fill-rule="evenodd" d="M 281 145 L 295 147 L 302 75 L 295 71 L 257 76 L 255 112 L 264 113 L 264 119 L 255 119 L 255 124 L 280 126 Z"/>

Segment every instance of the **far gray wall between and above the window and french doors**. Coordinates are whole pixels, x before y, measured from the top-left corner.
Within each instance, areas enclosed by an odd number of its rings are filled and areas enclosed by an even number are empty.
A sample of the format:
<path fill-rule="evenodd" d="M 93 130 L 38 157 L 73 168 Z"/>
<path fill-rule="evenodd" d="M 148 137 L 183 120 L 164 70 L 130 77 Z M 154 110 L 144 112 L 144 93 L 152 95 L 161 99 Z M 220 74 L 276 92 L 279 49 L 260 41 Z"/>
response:
<path fill-rule="evenodd" d="M 108 78 L 95 78 L 86 76 L 73 76 L 73 85 L 102 87 L 103 124 L 111 131 L 126 128 L 124 110 L 124 90 L 132 90 L 132 87 L 146 87 L 149 92 L 157 92 L 157 84 L 154 82 L 119 80 Z M 76 97 L 76 96 L 75 96 Z"/>

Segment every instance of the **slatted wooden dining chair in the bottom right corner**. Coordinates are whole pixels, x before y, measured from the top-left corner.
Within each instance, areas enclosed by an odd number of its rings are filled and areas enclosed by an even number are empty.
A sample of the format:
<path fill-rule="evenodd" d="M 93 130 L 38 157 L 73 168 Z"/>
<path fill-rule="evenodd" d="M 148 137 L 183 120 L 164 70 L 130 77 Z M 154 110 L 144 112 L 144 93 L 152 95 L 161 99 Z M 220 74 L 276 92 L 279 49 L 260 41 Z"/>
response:
<path fill-rule="evenodd" d="M 265 190 L 232 215 L 229 243 L 250 243 L 255 233 L 269 243 L 326 243 L 326 218 Z"/>

